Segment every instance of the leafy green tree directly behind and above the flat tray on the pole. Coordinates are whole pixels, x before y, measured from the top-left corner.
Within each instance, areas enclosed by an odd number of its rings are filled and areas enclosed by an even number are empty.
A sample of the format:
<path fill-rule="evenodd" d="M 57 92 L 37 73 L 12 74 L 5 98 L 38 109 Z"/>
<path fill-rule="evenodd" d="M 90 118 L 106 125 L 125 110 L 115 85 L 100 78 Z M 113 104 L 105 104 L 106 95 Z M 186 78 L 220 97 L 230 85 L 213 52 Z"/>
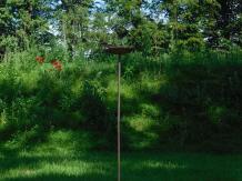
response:
<path fill-rule="evenodd" d="M 107 10 L 113 14 L 112 19 L 114 19 L 112 30 L 121 43 L 132 44 L 145 56 L 158 54 L 167 47 L 164 26 L 153 16 L 158 12 L 157 9 L 152 11 L 154 2 L 114 0 L 107 1 Z"/>

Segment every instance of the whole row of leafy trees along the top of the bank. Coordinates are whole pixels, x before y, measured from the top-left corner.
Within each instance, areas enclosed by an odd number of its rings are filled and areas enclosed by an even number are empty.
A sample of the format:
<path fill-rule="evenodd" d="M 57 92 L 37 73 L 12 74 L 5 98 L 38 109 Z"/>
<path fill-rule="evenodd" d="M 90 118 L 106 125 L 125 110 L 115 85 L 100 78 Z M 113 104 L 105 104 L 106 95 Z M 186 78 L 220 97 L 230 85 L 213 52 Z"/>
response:
<path fill-rule="evenodd" d="M 60 43 L 72 59 L 99 43 L 128 43 L 143 56 L 241 46 L 240 0 L 3 0 L 0 52 Z"/>

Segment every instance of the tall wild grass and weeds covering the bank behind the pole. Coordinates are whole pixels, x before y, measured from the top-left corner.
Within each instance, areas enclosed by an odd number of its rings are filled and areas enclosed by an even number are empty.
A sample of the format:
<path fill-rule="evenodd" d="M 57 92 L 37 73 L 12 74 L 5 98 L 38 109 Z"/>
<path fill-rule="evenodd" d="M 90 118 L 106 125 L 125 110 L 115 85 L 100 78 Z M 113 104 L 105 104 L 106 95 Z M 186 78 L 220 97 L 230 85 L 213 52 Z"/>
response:
<path fill-rule="evenodd" d="M 0 63 L 1 139 L 30 132 L 31 142 L 65 128 L 91 131 L 99 149 L 114 148 L 115 58 L 70 62 L 47 52 L 39 64 L 38 53 L 9 54 Z M 51 66 L 54 57 L 62 71 Z M 123 57 L 123 149 L 241 150 L 241 50 Z"/>

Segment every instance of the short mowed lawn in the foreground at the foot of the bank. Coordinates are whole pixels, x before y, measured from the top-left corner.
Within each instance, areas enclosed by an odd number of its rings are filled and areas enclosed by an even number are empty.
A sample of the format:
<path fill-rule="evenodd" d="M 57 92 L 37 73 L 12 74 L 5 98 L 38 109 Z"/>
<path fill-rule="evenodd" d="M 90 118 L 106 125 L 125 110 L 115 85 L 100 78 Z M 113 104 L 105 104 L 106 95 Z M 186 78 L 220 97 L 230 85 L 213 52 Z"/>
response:
<path fill-rule="evenodd" d="M 57 131 L 49 134 L 44 143 L 28 149 L 16 142 L 3 143 L 0 180 L 117 180 L 117 154 L 94 151 L 85 133 Z M 242 180 L 242 155 L 123 152 L 122 180 L 239 181 Z"/>

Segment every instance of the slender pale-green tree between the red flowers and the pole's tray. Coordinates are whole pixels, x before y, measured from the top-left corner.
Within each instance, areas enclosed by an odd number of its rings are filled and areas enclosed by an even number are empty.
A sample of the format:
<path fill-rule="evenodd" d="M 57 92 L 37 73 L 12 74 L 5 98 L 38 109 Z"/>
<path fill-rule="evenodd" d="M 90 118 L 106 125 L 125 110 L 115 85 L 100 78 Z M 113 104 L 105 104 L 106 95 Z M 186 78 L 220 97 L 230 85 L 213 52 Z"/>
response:
<path fill-rule="evenodd" d="M 61 0 L 58 7 L 59 30 L 71 59 L 74 56 L 74 49 L 87 41 L 92 6 L 93 0 Z"/>

